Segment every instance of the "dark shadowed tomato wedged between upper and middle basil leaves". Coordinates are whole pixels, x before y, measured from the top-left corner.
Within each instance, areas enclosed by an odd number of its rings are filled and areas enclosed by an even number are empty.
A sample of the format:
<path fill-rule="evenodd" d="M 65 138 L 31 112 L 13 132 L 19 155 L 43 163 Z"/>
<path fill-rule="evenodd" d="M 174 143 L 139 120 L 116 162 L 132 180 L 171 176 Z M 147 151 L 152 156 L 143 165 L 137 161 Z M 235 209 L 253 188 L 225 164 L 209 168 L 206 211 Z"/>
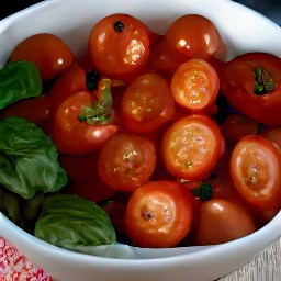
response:
<path fill-rule="evenodd" d="M 50 102 L 47 94 L 41 94 L 36 98 L 19 100 L 15 103 L 0 111 L 0 117 L 22 117 L 26 119 L 37 126 L 44 126 L 49 122 Z"/>

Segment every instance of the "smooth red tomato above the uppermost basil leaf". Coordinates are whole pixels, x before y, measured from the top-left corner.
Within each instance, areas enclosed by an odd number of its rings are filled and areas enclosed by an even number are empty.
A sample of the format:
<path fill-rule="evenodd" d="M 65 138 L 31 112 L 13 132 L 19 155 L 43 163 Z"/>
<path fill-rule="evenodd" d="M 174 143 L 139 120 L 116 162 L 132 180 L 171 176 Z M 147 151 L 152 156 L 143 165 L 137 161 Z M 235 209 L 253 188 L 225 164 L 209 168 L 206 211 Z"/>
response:
<path fill-rule="evenodd" d="M 74 61 L 74 54 L 68 45 L 58 36 L 50 33 L 34 34 L 15 46 L 11 61 L 29 60 L 34 63 L 43 81 L 57 77 Z"/>

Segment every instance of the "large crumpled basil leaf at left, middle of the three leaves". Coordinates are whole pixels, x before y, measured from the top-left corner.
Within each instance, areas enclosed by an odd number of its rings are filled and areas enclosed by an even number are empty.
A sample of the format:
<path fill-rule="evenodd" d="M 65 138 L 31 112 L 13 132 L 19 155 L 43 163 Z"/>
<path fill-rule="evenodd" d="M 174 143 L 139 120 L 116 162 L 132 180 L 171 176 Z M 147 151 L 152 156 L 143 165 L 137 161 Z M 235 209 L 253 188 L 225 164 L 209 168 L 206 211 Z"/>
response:
<path fill-rule="evenodd" d="M 19 117 L 0 120 L 0 184 L 31 199 L 55 192 L 67 183 L 52 138 L 35 124 Z"/>

